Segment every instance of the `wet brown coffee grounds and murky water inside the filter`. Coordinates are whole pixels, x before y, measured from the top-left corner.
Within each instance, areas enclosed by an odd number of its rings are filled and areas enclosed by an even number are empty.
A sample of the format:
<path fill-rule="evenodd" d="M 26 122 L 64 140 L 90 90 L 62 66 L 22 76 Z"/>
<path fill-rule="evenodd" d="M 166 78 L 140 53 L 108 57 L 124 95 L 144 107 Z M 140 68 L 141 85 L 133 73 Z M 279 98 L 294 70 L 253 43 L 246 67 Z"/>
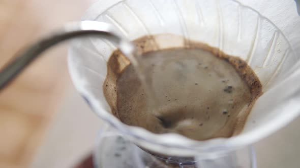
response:
<path fill-rule="evenodd" d="M 162 44 L 170 39 L 166 37 L 170 35 L 134 41 L 142 53 L 144 75 L 153 88 L 156 107 L 149 107 L 130 61 L 118 50 L 113 52 L 103 86 L 113 115 L 128 125 L 194 140 L 241 132 L 252 105 L 262 94 L 253 70 L 242 59 L 203 43 L 188 41 L 188 47 L 168 48 Z"/>

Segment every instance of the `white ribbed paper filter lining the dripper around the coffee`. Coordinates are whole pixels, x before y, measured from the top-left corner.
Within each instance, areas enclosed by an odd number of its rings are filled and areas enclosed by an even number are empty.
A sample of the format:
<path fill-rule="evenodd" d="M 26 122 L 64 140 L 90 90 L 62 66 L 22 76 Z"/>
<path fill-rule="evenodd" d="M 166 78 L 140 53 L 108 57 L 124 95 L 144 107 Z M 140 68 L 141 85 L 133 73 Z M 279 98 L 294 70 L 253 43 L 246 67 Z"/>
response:
<path fill-rule="evenodd" d="M 134 135 L 133 139 L 148 140 L 136 140 L 140 145 L 157 151 L 163 148 L 149 142 L 196 146 L 199 150 L 247 145 L 282 128 L 300 111 L 300 85 L 297 85 L 300 70 L 293 68 L 299 58 L 273 23 L 235 1 L 99 1 L 87 11 L 83 20 L 110 23 L 130 40 L 147 34 L 172 33 L 202 41 L 247 61 L 262 83 L 264 94 L 257 100 L 244 131 L 238 136 L 199 142 L 173 134 L 155 135 L 125 126 L 110 114 L 102 85 L 107 72 L 106 61 L 116 46 L 97 38 L 74 41 L 69 67 L 76 88 L 101 118 Z M 171 42 L 165 45 L 181 45 L 180 41 Z"/>

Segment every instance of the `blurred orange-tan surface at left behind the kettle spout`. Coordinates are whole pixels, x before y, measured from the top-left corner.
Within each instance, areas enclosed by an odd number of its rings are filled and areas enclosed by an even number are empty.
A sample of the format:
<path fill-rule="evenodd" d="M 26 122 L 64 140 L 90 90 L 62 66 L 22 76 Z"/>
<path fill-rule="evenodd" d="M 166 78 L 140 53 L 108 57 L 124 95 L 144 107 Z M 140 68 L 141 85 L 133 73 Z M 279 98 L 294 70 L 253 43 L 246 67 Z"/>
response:
<path fill-rule="evenodd" d="M 94 0 L 1 0 L 0 67 L 21 48 L 80 20 Z M 67 46 L 44 54 L 0 92 L 0 167 L 27 167 L 68 86 Z"/>

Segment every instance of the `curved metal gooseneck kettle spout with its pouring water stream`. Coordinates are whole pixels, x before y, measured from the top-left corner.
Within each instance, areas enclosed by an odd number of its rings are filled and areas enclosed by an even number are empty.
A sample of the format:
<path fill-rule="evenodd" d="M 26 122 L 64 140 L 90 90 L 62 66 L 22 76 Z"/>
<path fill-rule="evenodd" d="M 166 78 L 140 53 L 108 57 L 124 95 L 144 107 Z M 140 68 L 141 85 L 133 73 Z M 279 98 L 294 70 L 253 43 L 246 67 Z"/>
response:
<path fill-rule="evenodd" d="M 106 38 L 116 44 L 119 50 L 130 60 L 135 69 L 137 69 L 137 75 L 149 97 L 149 107 L 156 107 L 155 96 L 153 92 L 151 92 L 151 89 L 149 89 L 145 76 L 143 75 L 143 68 L 142 65 L 140 65 L 141 61 L 139 61 L 135 46 L 129 40 L 119 35 L 109 24 L 97 21 L 81 21 L 66 24 L 62 30 L 58 30 L 54 34 L 37 41 L 23 50 L 0 70 L 0 90 L 5 89 L 18 74 L 36 58 L 41 56 L 45 50 L 65 40 L 82 36 L 98 36 L 100 38 Z"/>

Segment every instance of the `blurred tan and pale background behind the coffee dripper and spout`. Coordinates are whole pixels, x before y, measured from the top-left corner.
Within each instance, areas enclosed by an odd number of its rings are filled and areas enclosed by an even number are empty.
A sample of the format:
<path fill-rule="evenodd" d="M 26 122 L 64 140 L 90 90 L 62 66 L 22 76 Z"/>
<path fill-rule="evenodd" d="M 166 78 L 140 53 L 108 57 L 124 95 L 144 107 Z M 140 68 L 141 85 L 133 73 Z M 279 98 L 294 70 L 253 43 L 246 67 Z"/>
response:
<path fill-rule="evenodd" d="M 0 67 L 24 46 L 80 20 L 96 0 L 1 0 Z M 0 167 L 73 167 L 92 152 L 101 120 L 76 93 L 67 45 L 46 52 L 0 92 Z M 255 144 L 259 167 L 298 167 L 300 118 Z"/>

